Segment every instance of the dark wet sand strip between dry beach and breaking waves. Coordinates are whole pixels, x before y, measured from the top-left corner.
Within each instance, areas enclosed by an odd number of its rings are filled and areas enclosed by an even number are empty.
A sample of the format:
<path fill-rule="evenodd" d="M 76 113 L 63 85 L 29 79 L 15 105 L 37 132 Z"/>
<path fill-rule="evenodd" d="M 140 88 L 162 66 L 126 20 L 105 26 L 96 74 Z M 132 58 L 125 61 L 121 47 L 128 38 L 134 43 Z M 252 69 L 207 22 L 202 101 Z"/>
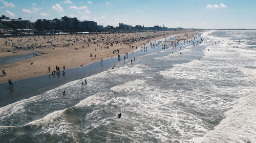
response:
<path fill-rule="evenodd" d="M 163 43 L 164 38 L 161 38 L 158 41 L 161 41 Z M 183 45 L 183 42 L 181 42 L 180 46 L 182 48 L 186 47 L 185 45 Z M 124 54 L 123 54 L 123 55 L 120 55 L 121 61 L 118 61 L 117 58 L 112 57 L 112 58 L 103 60 L 103 64 L 101 64 L 101 62 L 99 61 L 83 67 L 67 69 L 65 75 L 60 74 L 60 75 L 53 76 L 53 75 L 47 74 L 47 75 L 41 75 L 33 78 L 18 80 L 14 82 L 14 88 L 10 88 L 8 86 L 8 83 L 0 83 L 0 89 L 1 91 L 3 91 L 0 94 L 1 95 L 0 107 L 4 107 L 8 104 L 11 104 L 23 99 L 28 99 L 36 95 L 43 94 L 49 90 L 55 89 L 57 87 L 60 87 L 63 84 L 72 82 L 74 80 L 79 80 L 79 79 L 81 80 L 89 76 L 92 76 L 94 74 L 108 71 L 114 66 L 119 67 L 122 65 L 130 64 L 131 62 L 130 60 L 133 59 L 133 57 L 136 57 L 136 60 L 138 60 L 140 59 L 139 57 L 141 56 L 145 56 L 155 52 L 161 52 L 163 50 L 161 49 L 161 46 L 152 48 L 150 44 L 147 44 L 146 47 L 147 47 L 146 51 L 137 49 L 137 51 L 134 52 L 134 55 L 130 54 L 129 58 L 126 59 L 125 61 L 123 61 L 123 58 L 124 58 Z M 175 49 L 174 53 L 178 51 L 179 51 L 179 48 L 177 48 L 177 50 Z"/>

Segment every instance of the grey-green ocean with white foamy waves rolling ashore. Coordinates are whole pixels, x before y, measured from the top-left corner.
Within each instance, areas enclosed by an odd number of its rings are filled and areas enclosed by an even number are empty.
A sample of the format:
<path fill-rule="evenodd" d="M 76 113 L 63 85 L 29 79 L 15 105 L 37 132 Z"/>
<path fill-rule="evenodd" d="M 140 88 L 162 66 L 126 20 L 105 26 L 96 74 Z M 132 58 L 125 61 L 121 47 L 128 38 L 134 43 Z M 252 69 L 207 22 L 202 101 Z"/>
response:
<path fill-rule="evenodd" d="M 164 41 L 1 107 L 0 142 L 256 142 L 256 30 Z"/>

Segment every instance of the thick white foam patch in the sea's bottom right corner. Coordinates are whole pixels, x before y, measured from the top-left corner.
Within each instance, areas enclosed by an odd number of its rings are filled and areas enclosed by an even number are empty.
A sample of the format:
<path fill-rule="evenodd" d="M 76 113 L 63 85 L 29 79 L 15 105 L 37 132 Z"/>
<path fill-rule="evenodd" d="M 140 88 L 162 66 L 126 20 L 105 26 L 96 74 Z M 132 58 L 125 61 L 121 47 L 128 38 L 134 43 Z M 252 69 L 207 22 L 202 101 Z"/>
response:
<path fill-rule="evenodd" d="M 194 142 L 255 142 L 256 126 L 256 94 L 241 98 L 238 104 L 225 112 L 226 118 L 202 138 L 194 138 Z"/>

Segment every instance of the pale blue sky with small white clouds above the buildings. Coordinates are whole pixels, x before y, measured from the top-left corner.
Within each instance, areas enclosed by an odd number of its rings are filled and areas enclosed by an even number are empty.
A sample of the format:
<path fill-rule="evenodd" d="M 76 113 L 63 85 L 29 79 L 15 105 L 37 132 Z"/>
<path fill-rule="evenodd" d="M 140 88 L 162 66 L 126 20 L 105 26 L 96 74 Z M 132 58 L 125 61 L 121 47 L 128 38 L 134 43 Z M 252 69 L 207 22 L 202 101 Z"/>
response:
<path fill-rule="evenodd" d="M 92 20 L 99 25 L 183 28 L 256 28 L 256 0 L 0 0 L 11 19 Z"/>

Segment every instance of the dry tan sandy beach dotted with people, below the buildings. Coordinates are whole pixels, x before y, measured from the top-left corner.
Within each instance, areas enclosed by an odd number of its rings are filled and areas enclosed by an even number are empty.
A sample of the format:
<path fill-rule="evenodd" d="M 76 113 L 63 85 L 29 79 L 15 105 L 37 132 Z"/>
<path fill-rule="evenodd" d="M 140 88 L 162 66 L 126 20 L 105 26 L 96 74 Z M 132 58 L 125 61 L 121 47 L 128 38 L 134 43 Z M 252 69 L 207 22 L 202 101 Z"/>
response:
<path fill-rule="evenodd" d="M 111 33 L 111 34 L 79 34 L 52 35 L 1 38 L 0 58 L 7 56 L 40 52 L 44 53 L 33 58 L 0 65 L 0 70 L 6 71 L 6 76 L 0 77 L 0 83 L 22 80 L 36 76 L 51 74 L 59 66 L 63 70 L 86 66 L 88 64 L 134 52 L 150 41 L 177 35 L 175 41 L 194 38 L 200 31 L 157 31 L 139 33 Z M 119 53 L 117 50 L 119 49 Z M 8 50 L 12 52 L 8 52 Z M 115 51 L 115 52 L 113 52 Z M 90 56 L 92 53 L 93 56 Z M 96 55 L 96 56 L 95 56 Z M 33 64 L 31 65 L 31 63 Z M 1 74 L 2 75 L 2 74 Z"/>

